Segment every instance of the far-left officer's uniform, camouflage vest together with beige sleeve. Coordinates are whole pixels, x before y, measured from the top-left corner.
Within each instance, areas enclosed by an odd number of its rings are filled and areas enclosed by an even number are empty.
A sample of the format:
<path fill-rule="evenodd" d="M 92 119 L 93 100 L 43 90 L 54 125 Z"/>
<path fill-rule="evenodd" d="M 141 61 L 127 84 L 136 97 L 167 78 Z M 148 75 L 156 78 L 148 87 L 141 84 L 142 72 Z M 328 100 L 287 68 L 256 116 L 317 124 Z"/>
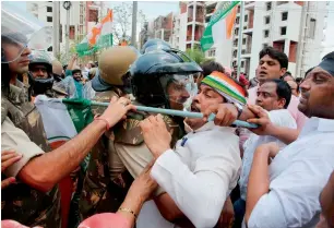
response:
<path fill-rule="evenodd" d="M 31 188 L 17 178 L 20 170 L 34 157 L 49 152 L 41 117 L 27 101 L 26 92 L 11 85 L 10 94 L 1 97 L 1 152 L 15 149 L 23 157 L 10 166 L 1 179 L 16 177 L 15 184 L 1 190 L 2 219 L 13 219 L 33 227 L 61 226 L 58 187 L 45 193 Z"/>

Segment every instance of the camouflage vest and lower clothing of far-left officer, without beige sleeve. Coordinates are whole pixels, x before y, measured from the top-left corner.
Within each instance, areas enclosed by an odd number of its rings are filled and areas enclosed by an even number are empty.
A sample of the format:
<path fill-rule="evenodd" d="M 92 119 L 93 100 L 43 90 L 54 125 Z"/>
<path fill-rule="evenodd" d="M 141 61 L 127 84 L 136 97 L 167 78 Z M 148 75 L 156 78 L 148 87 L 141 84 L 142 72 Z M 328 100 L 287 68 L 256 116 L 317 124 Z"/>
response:
<path fill-rule="evenodd" d="M 1 93 L 1 124 L 7 117 L 10 118 L 13 124 L 22 129 L 32 142 L 44 152 L 48 152 L 49 146 L 41 117 L 36 107 L 27 101 L 26 93 L 14 85 L 10 85 L 8 97 L 3 88 Z M 7 178 L 3 173 L 1 176 L 2 180 Z M 58 187 L 44 193 L 17 180 L 16 184 L 2 189 L 1 193 L 2 219 L 13 219 L 29 227 L 60 227 L 60 193 Z"/>

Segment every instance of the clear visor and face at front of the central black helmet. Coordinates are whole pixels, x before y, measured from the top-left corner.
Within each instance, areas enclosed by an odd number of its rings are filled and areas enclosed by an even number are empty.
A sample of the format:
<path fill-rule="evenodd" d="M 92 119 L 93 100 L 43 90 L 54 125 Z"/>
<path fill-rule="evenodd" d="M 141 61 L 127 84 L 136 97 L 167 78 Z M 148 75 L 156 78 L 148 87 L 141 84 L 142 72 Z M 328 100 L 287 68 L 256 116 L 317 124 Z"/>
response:
<path fill-rule="evenodd" d="M 166 74 L 159 80 L 171 109 L 182 110 L 196 93 L 192 74 Z"/>

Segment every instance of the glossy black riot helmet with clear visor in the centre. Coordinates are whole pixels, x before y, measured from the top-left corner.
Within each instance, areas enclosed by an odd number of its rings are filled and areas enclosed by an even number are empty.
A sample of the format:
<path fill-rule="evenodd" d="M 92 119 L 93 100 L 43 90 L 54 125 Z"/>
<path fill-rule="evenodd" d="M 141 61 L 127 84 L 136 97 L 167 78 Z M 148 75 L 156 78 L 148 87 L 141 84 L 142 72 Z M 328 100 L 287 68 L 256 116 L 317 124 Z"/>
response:
<path fill-rule="evenodd" d="M 198 63 L 184 62 L 172 52 L 156 50 L 141 56 L 131 67 L 131 85 L 139 103 L 152 107 L 183 109 L 195 93 Z"/>

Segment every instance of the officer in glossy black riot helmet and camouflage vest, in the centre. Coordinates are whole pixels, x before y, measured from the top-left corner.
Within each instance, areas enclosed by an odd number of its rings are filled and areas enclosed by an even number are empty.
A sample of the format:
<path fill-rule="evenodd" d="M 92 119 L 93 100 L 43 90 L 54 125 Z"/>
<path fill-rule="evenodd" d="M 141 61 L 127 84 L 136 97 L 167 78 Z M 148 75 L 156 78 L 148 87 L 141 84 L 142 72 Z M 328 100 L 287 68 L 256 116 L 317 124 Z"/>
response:
<path fill-rule="evenodd" d="M 112 65 L 111 60 L 108 63 Z M 99 68 L 102 65 L 100 61 Z M 172 51 L 152 50 L 139 57 L 129 71 L 132 92 L 136 98 L 134 104 L 182 109 L 183 103 L 190 97 L 190 92 L 187 89 L 195 86 L 192 73 L 196 72 L 201 72 L 196 63 L 183 62 Z M 122 73 L 110 74 L 109 77 L 111 80 L 111 75 L 119 75 L 121 77 L 117 79 L 118 82 L 127 82 L 129 77 L 126 73 L 124 68 Z M 116 92 L 109 93 L 116 94 Z M 103 101 L 103 99 L 97 100 Z M 97 149 L 99 153 L 93 149 L 80 201 L 83 218 L 96 213 L 116 212 L 133 177 L 139 175 L 152 159 L 139 128 L 140 121 L 148 115 L 139 111 L 129 113 L 127 120 L 117 124 L 112 131 L 106 132 L 105 142 Z M 165 116 L 164 120 L 175 143 L 183 135 L 182 120 L 168 116 Z"/>

